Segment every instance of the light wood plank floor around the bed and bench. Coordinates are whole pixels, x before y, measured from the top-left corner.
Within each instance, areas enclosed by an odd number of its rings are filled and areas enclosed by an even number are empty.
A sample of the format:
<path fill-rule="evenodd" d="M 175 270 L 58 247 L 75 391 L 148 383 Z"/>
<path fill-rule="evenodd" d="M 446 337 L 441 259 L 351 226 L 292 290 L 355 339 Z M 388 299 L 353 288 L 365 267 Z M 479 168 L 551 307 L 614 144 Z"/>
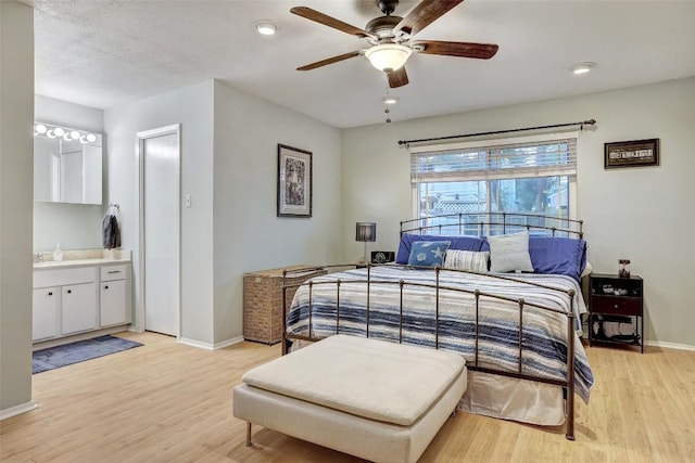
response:
<path fill-rule="evenodd" d="M 143 347 L 34 375 L 40 409 L 0 422 L 2 462 L 357 462 L 231 414 L 231 388 L 280 346 L 217 351 L 152 333 Z M 695 462 L 695 352 L 587 348 L 591 402 L 577 400 L 577 440 L 459 413 L 421 462 Z"/>

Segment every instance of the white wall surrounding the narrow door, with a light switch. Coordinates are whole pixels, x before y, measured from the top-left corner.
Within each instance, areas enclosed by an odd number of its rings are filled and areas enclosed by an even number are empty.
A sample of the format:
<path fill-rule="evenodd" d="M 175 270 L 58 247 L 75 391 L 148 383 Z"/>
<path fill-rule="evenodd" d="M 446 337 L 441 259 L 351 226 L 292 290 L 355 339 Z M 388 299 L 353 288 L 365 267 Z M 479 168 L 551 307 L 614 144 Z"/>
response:
<path fill-rule="evenodd" d="M 110 154 L 105 202 L 121 204 L 122 243 L 124 248 L 132 249 L 134 257 L 135 308 L 140 279 L 136 133 L 173 124 L 181 124 L 181 193 L 190 193 L 193 205 L 181 208 L 180 336 L 210 344 L 213 342 L 212 80 L 104 112 Z"/>

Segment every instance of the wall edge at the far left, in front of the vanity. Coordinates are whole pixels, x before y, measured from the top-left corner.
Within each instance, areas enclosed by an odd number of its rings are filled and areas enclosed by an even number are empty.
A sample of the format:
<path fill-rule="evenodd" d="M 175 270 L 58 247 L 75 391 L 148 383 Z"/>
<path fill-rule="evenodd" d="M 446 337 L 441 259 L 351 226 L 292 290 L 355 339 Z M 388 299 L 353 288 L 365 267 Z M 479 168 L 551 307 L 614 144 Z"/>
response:
<path fill-rule="evenodd" d="M 34 10 L 0 2 L 0 419 L 31 403 Z"/>

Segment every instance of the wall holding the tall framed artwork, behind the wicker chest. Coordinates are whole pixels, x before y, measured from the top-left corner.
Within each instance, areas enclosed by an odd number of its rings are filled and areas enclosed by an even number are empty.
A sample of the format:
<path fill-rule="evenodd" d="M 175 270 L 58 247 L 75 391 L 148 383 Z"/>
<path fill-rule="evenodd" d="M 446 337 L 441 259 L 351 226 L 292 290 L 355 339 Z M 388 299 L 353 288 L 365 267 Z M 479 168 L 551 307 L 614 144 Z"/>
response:
<path fill-rule="evenodd" d="M 312 218 L 277 217 L 277 145 L 313 153 Z M 243 273 L 340 260 L 340 132 L 215 82 L 215 342 L 242 334 Z"/>

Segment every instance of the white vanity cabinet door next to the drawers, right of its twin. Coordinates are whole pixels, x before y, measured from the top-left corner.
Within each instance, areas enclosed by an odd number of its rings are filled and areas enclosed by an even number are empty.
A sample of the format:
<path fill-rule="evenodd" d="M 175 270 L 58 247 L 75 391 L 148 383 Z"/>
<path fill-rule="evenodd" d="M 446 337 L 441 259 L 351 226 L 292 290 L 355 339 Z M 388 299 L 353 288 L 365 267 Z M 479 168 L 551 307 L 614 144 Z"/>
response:
<path fill-rule="evenodd" d="M 62 334 L 97 327 L 97 283 L 73 284 L 62 287 Z"/>

